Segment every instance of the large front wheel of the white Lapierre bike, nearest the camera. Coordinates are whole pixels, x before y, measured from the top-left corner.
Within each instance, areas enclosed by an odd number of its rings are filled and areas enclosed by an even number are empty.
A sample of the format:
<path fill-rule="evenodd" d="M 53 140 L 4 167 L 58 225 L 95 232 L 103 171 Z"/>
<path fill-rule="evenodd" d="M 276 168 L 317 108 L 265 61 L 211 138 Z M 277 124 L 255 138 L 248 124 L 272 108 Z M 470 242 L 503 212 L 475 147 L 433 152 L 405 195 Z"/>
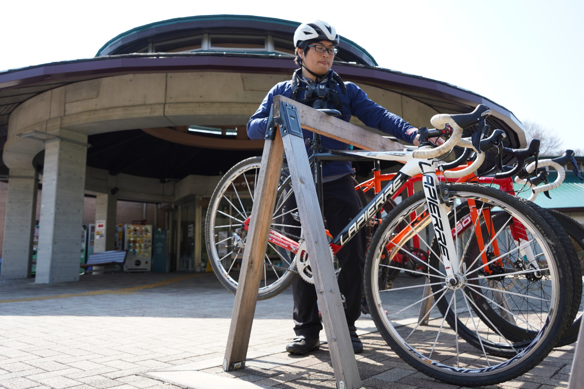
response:
<path fill-rule="evenodd" d="M 413 298 L 412 292 L 422 292 L 425 287 L 432 293 L 430 285 L 439 280 L 446 284 L 445 277 L 440 275 L 440 270 L 429 266 L 428 274 L 422 278 L 398 277 L 392 289 L 379 290 L 377 285 L 380 272 L 380 260 L 392 234 L 398 228 L 399 223 L 408 220 L 412 211 L 421 211 L 426 208 L 426 199 L 422 192 L 418 192 L 398 204 L 378 229 L 373 237 L 367 253 L 365 265 L 365 288 L 367 303 L 371 311 L 371 317 L 380 334 L 406 363 L 415 367 L 427 376 L 435 379 L 457 384 L 460 386 L 481 386 L 498 384 L 514 379 L 536 366 L 554 348 L 559 337 L 566 328 L 565 318 L 568 316 L 569 305 L 572 297 L 572 284 L 565 282 L 571 279 L 568 260 L 559 250 L 560 243 L 550 227 L 545 225 L 541 216 L 537 215 L 527 204 L 502 191 L 482 187 L 477 184 L 451 184 L 444 185 L 449 192 L 452 201 L 468 198 L 479 199 L 489 206 L 498 206 L 505 212 L 516 217 L 529 229 L 533 239 L 531 244 L 541 250 L 540 260 L 547 260 L 548 272 L 550 272 L 549 308 L 535 317 L 533 320 L 542 322 L 541 330 L 536 338 L 529 342 L 523 349 L 517 350 L 512 358 L 507 356 L 491 356 L 483 349 L 477 349 L 474 345 L 467 344 L 457 334 L 457 328 L 451 329 L 444 325 L 446 319 L 437 310 L 436 305 L 429 307 L 426 315 L 421 315 L 420 307 L 426 304 L 427 299 Z M 456 207 L 454 208 L 456 209 Z M 418 213 L 419 215 L 420 213 Z M 430 248 L 425 232 L 416 232 L 420 241 Z M 397 247 L 402 246 L 401 244 Z M 465 273 L 461 269 L 461 288 L 470 288 L 466 285 Z M 472 270 L 472 269 L 470 269 Z M 469 277 L 471 274 L 467 274 Z M 426 282 L 427 280 L 427 282 Z M 562 280 L 562 282 L 560 282 Z M 398 282 L 399 281 L 399 282 Z M 446 288 L 446 286 L 444 286 Z M 456 293 L 456 290 L 455 292 Z M 437 296 L 440 297 L 440 296 Z M 458 311 L 454 307 L 454 312 Z M 390 312 L 387 316 L 384 311 Z M 468 315 L 472 310 L 468 310 Z M 429 325 L 422 325 L 427 318 Z M 529 318 L 531 320 L 531 318 Z M 477 332 L 482 337 L 486 326 L 481 328 L 478 317 L 475 317 Z M 538 324 L 539 325 L 539 324 Z M 409 332 L 409 333 L 408 333 Z M 499 339 L 491 339 L 496 342 L 508 341 L 498 335 Z"/>

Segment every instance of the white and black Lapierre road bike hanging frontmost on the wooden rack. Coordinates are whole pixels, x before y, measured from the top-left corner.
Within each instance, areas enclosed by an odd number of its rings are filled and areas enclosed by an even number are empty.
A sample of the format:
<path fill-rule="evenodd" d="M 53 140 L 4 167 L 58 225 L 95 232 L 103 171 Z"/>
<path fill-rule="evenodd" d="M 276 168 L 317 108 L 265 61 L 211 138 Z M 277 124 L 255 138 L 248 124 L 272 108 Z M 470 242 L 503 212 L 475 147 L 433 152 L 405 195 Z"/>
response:
<path fill-rule="evenodd" d="M 554 231 L 545 224 L 544 219 L 537 212 L 530 208 L 527 201 L 482 185 L 440 183 L 436 176 L 437 160 L 435 157 L 447 152 L 456 142 L 460 141 L 463 128 L 477 122 L 484 123 L 484 116 L 489 113 L 490 110 L 481 105 L 471 114 L 436 115 L 432 118 L 432 124 L 437 129 L 427 130 L 420 128 L 422 146 L 413 151 L 339 153 L 341 155 L 352 155 L 353 157 L 357 155 L 371 159 L 401 160 L 406 163 L 396 176 L 385 185 L 383 190 L 349 222 L 343 232 L 332 238 L 330 244 L 333 251 L 338 250 L 338 248 L 352 239 L 356 231 L 364 227 L 371 216 L 380 212 L 385 202 L 409 178 L 415 176 L 421 170 L 423 191 L 408 197 L 398 204 L 378 226 L 373 236 L 367 251 L 366 277 L 364 280 L 367 299 L 370 302 L 371 316 L 378 330 L 380 330 L 385 341 L 392 346 L 392 349 L 401 358 L 429 376 L 461 385 L 494 384 L 519 376 L 545 358 L 555 346 L 559 337 L 564 334 L 569 323 L 573 321 L 573 317 L 570 317 L 572 276 L 568 259 L 565 253 L 560 250 L 561 244 Z M 433 148 L 426 142 L 427 138 L 431 136 L 444 135 L 449 136 L 449 139 L 437 148 Z M 234 178 L 229 178 L 228 180 L 231 180 L 231 184 L 234 183 Z M 283 183 L 284 185 L 286 184 Z M 277 204 L 283 204 L 289 194 L 290 190 L 286 190 L 286 188 L 279 191 Z M 251 192 L 250 197 L 253 197 Z M 488 264 L 479 261 L 469 263 L 465 260 L 465 257 L 456 250 L 455 239 L 453 239 L 450 232 L 449 222 L 449 217 L 457 220 L 457 208 L 468 201 L 480 204 L 479 215 L 481 216 L 488 212 L 496 211 L 499 215 L 503 215 L 501 216 L 503 220 L 513 220 L 515 225 L 523 227 L 523 240 L 519 248 L 511 248 L 505 254 L 512 256 L 517 253 L 525 255 L 531 253 L 533 258 L 526 258 L 523 262 L 517 262 L 523 267 L 516 264 L 512 269 L 504 269 L 505 272 L 497 274 L 496 277 L 498 279 L 537 279 L 537 286 L 545 292 L 544 295 L 541 293 L 537 295 L 530 289 L 496 289 L 489 287 L 488 282 L 486 285 L 481 284 L 480 288 L 475 286 L 477 279 L 489 280 L 492 277 L 492 275 L 483 275 L 477 272 L 477 268 L 483 268 Z M 228 202 L 228 204 L 235 207 L 235 203 L 232 201 Z M 216 220 L 213 220 L 216 214 L 214 211 L 218 209 L 217 206 L 210 204 L 211 209 L 213 209 L 213 213 L 211 215 L 208 214 L 207 217 L 208 232 L 211 232 L 209 226 L 221 225 Z M 217 213 L 224 215 L 226 218 L 231 218 L 232 216 L 229 212 L 219 211 Z M 231 219 L 235 220 L 235 222 L 230 221 L 230 226 L 238 224 L 241 228 L 245 223 L 246 218 L 243 217 L 245 212 L 240 213 L 241 217 Z M 430 242 L 432 239 L 432 236 L 427 234 L 427 224 L 424 226 L 422 226 L 422 223 L 410 224 L 412 214 L 418 215 L 422 219 L 429 219 L 432 222 L 434 236 L 437 237 L 437 250 L 433 250 L 431 253 L 431 258 L 426 264 L 427 271 L 419 272 L 420 278 L 418 279 L 412 278 L 412 280 L 415 280 L 415 284 L 399 287 L 394 285 L 391 289 L 384 289 L 383 285 L 379 284 L 379 280 L 380 276 L 383 275 L 383 271 L 388 268 L 387 261 L 391 259 L 391 254 L 400 250 L 403 251 L 405 243 L 411 240 L 413 236 L 418 236 L 418 239 L 426 242 Z M 274 214 L 274 225 L 277 226 L 279 224 L 280 218 L 281 215 Z M 408 224 L 405 233 L 402 227 L 403 223 Z M 490 223 L 488 218 L 483 218 L 477 225 L 481 226 L 482 223 L 489 223 L 489 229 L 474 234 L 475 236 L 488 238 L 479 244 L 479 247 L 485 250 L 485 248 L 493 245 L 498 235 L 504 232 L 508 223 L 503 222 L 500 229 L 498 229 L 499 225 Z M 213 245 L 215 242 L 225 242 L 232 239 L 237 241 L 237 237 L 228 236 L 217 236 L 214 239 L 207 243 Z M 287 237 L 278 237 L 278 239 L 286 241 Z M 270 242 L 273 243 L 271 239 Z M 297 247 L 289 247 L 288 253 L 293 250 L 300 253 L 297 256 L 302 260 L 296 261 L 296 265 L 302 275 L 303 269 L 310 267 L 310 259 L 308 259 L 302 241 L 298 241 L 296 244 L 298 245 Z M 234 246 L 237 246 L 237 243 Z M 430 244 L 426 243 L 426 246 L 430 247 Z M 237 247 L 244 249 L 245 244 Z M 278 245 L 272 246 L 272 248 L 272 257 L 282 260 L 283 255 L 280 255 L 279 251 L 281 247 Z M 266 255 L 270 254 L 266 253 Z M 279 264 L 274 264 L 274 268 L 285 268 L 284 271 L 286 271 L 287 263 L 283 265 L 286 261 L 282 261 Z M 270 263 L 273 262 L 270 260 Z M 290 264 L 293 265 L 292 260 L 290 260 Z M 471 266 L 468 267 L 468 264 Z M 430 280 L 429 285 L 426 285 L 426 279 Z M 421 320 L 418 318 L 418 312 L 422 311 L 419 306 L 425 304 L 428 297 L 422 297 L 418 302 L 408 304 L 405 307 L 400 306 L 402 302 L 408 301 L 408 299 L 400 297 L 401 293 L 411 293 L 414 288 L 420 287 L 422 289 L 429 287 L 432 290 L 430 295 L 435 295 L 437 302 L 443 298 L 448 298 L 445 297 L 446 293 L 438 295 L 439 292 L 434 291 L 437 287 L 442 292 L 448 290 L 452 294 L 453 297 L 450 298 L 450 302 L 454 302 L 455 306 L 450 309 L 449 305 L 448 310 L 455 316 L 453 321 L 454 328 L 445 325 L 446 318 L 436 309 L 435 303 L 429 308 L 426 307 L 425 314 L 423 314 Z M 235 288 L 237 288 L 237 285 Z M 465 312 L 459 312 L 456 307 L 456 295 L 460 295 L 464 299 L 466 289 L 471 288 L 481 293 L 482 290 L 487 290 L 488 288 L 496 289 L 497 295 L 502 296 L 503 300 L 517 301 L 518 303 L 515 304 L 515 307 L 519 307 L 519 310 L 523 306 L 519 303 L 519 300 L 527 303 L 537 302 L 539 307 L 537 311 L 531 308 L 533 306 L 531 304 L 530 311 L 527 314 L 519 315 L 515 313 L 515 316 L 520 317 L 517 325 L 526 327 L 530 331 L 537 331 L 537 335 L 526 339 L 520 345 L 514 346 L 513 342 L 505 338 L 505 334 L 488 331 L 489 327 L 482 324 L 482 318 L 479 317 L 475 310 L 468 309 Z M 420 292 L 422 289 L 419 289 Z M 419 294 L 422 295 L 422 293 Z M 485 296 L 484 303 L 492 306 L 501 305 L 498 297 Z M 473 302 L 466 299 L 465 303 L 472 304 Z M 386 315 L 385 310 L 390 314 Z M 486 341 L 490 342 L 489 345 L 506 345 L 506 348 L 510 348 L 512 353 L 491 355 L 485 351 L 484 347 L 477 348 L 475 345 L 465 341 L 463 337 L 458 335 L 456 328 L 456 323 L 460 320 L 458 317 L 460 314 L 464 315 L 462 318 L 464 321 L 470 317 L 474 323 L 477 323 L 473 330 L 479 344 L 482 344 L 486 339 Z M 420 325 L 424 321 L 426 325 Z"/>

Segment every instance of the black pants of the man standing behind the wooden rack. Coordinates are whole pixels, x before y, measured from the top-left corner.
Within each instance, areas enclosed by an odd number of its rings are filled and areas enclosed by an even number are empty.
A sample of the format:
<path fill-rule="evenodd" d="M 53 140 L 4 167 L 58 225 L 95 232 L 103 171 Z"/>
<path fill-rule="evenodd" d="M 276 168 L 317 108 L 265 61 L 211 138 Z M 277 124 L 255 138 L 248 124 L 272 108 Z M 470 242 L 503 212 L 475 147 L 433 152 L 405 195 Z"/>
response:
<path fill-rule="evenodd" d="M 339 234 L 359 212 L 359 199 L 354 183 L 353 177 L 347 175 L 323 184 L 324 214 L 327 227 L 333 237 Z M 296 199 L 289 199 L 285 208 L 296 208 Z M 289 215 L 284 223 L 298 225 L 298 222 Z M 361 314 L 361 296 L 363 295 L 364 230 L 361 229 L 357 236 L 339 250 L 336 257 L 341 268 L 338 276 L 339 289 L 346 299 L 345 316 L 349 330 L 354 330 L 355 321 Z M 298 277 L 292 284 L 292 293 L 294 332 L 296 335 L 318 337 L 322 324 L 318 318 L 317 293 L 314 285 Z"/>

